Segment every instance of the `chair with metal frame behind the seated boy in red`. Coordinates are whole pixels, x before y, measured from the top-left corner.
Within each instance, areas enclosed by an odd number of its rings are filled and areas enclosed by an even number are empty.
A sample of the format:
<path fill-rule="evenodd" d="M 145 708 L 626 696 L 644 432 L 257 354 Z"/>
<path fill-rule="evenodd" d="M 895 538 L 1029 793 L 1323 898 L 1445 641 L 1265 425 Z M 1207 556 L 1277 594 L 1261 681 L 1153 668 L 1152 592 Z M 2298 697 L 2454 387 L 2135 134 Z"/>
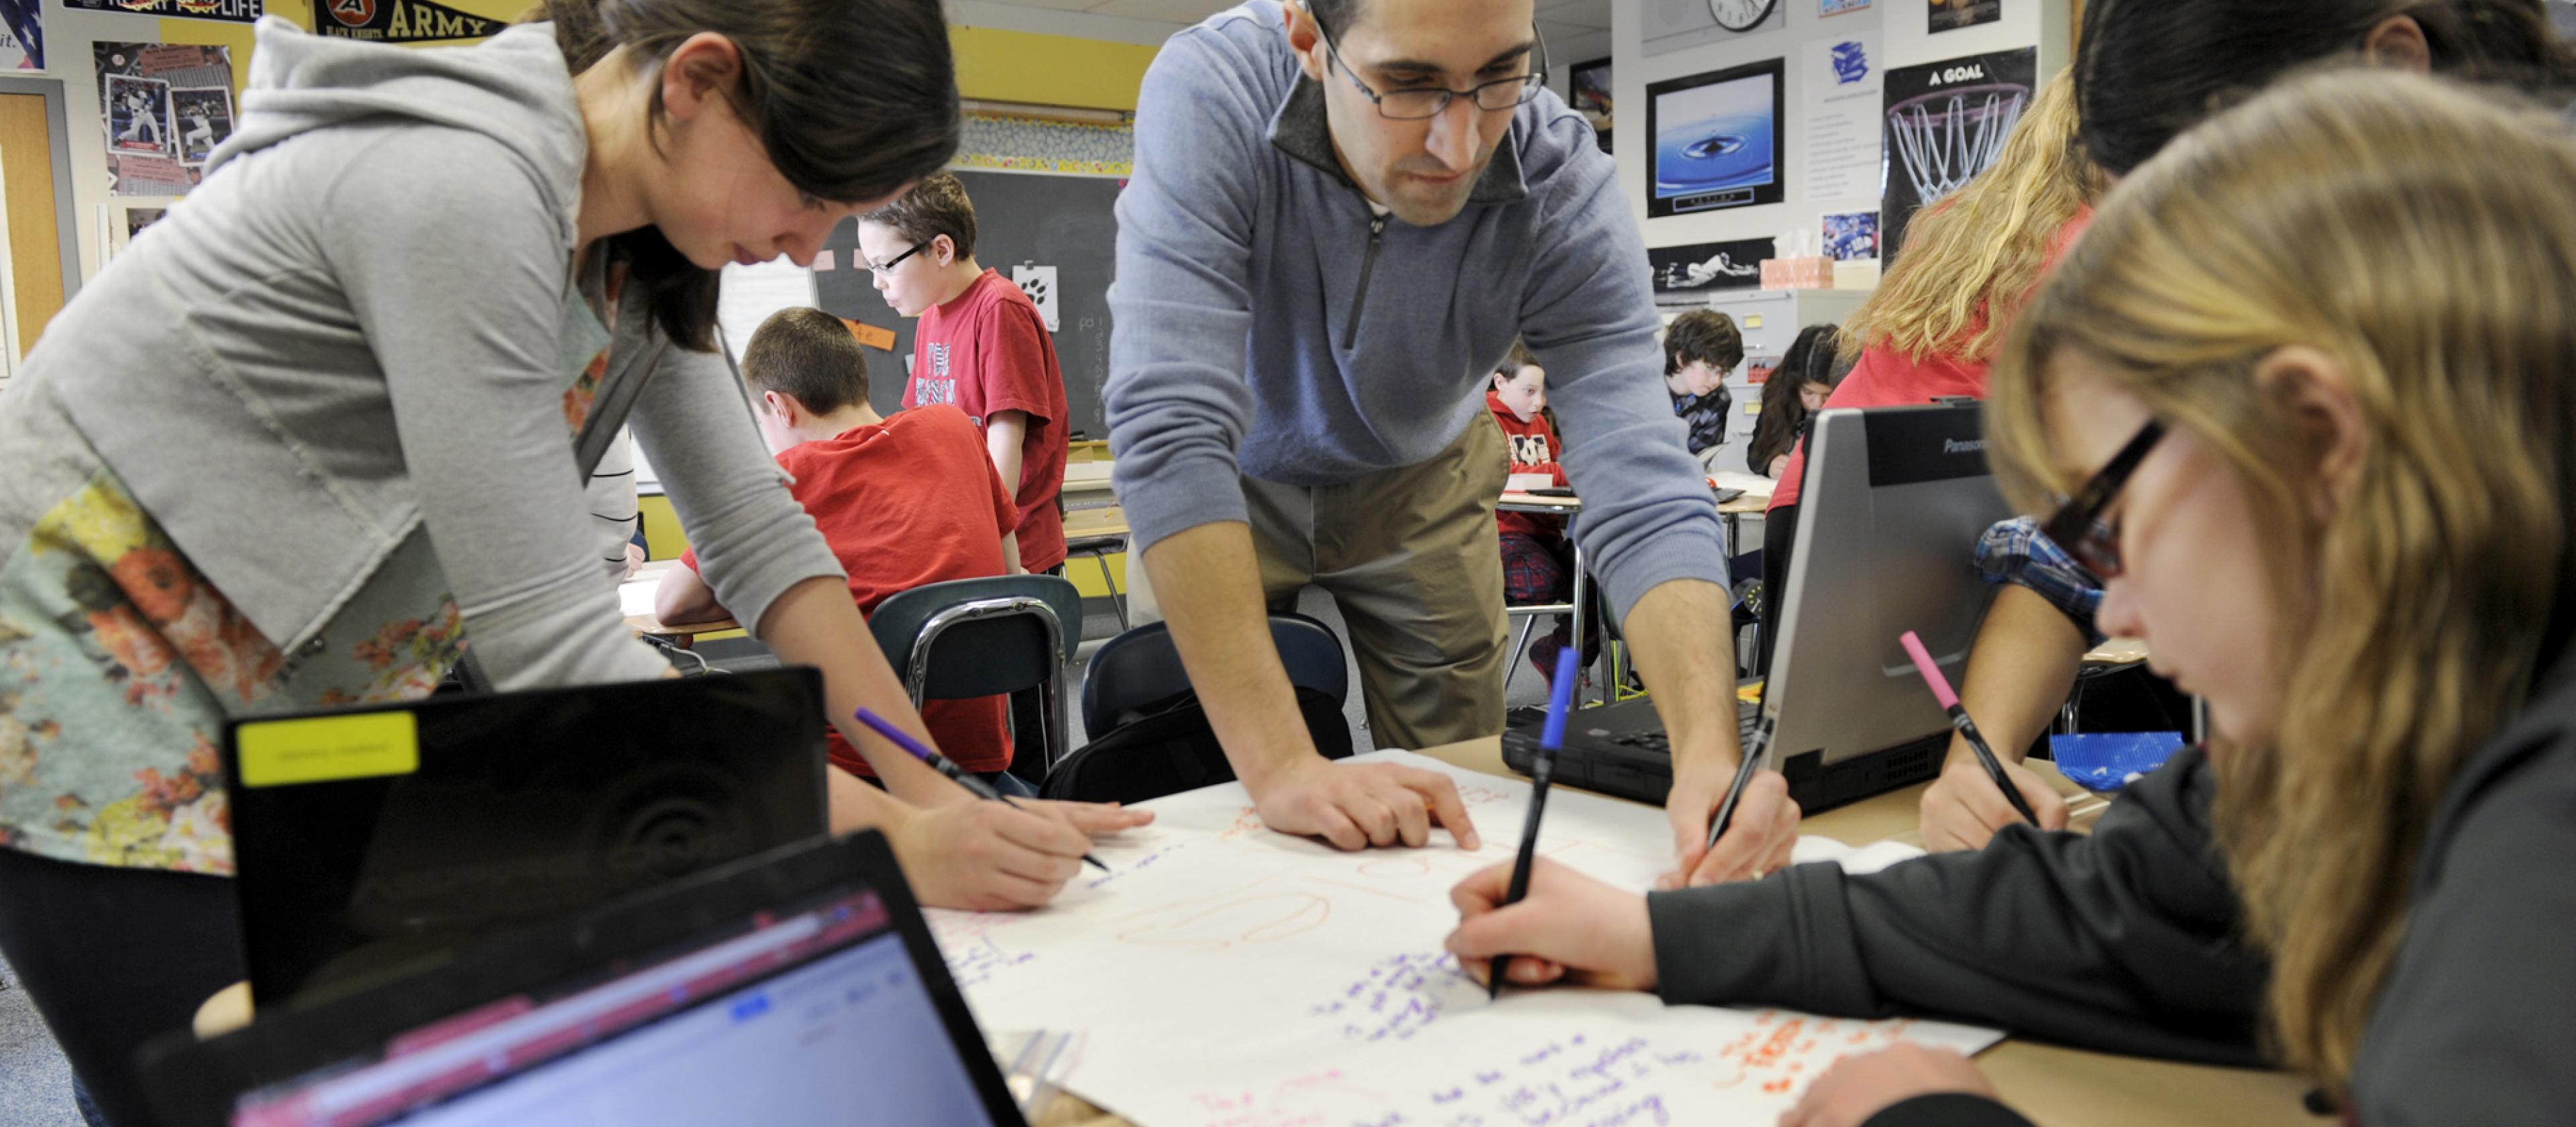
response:
<path fill-rule="evenodd" d="M 1064 759 L 1064 666 L 1082 641 L 1082 592 L 1072 582 L 992 576 L 925 584 L 878 602 L 868 630 L 912 692 L 912 708 L 1038 690 L 1046 715 L 1041 767 Z M 1012 767 L 1020 774 L 1018 762 Z"/>

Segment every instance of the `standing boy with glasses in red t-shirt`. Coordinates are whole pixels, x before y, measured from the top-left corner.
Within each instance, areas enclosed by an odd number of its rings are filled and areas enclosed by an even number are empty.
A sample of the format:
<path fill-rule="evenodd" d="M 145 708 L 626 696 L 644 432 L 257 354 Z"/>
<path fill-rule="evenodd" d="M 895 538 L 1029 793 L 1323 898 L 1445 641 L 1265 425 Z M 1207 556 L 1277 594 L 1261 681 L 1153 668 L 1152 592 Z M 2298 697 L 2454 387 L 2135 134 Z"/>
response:
<path fill-rule="evenodd" d="M 1038 304 L 974 260 L 974 201 L 938 172 L 858 216 L 876 291 L 912 327 L 904 409 L 948 404 L 984 427 L 984 448 L 1020 507 L 1020 561 L 1061 574 L 1066 407 L 1056 342 Z"/>

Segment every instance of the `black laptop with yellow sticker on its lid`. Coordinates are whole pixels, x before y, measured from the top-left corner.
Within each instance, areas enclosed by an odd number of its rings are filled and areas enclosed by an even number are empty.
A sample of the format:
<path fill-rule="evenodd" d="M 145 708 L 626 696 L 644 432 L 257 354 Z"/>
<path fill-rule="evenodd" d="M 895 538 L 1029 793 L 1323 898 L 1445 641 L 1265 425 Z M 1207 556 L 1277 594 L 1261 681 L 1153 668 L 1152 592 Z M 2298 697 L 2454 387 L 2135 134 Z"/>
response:
<path fill-rule="evenodd" d="M 242 718 L 224 777 L 263 1003 L 827 831 L 822 677 Z"/>

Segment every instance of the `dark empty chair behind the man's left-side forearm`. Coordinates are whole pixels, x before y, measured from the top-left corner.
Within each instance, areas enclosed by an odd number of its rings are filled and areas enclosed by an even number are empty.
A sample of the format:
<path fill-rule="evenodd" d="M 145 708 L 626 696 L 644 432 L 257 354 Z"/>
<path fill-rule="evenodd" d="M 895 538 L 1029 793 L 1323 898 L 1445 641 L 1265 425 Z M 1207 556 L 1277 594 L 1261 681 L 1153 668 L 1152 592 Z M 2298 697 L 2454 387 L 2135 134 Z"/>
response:
<path fill-rule="evenodd" d="M 1298 713 L 1324 759 L 1350 756 L 1350 666 L 1342 638 L 1306 615 L 1270 615 L 1270 638 L 1288 669 Z M 1172 633 L 1146 623 L 1092 654 L 1082 677 L 1082 726 L 1092 741 L 1046 774 L 1046 798 L 1141 803 L 1234 782 L 1234 764 L 1190 692 Z"/>

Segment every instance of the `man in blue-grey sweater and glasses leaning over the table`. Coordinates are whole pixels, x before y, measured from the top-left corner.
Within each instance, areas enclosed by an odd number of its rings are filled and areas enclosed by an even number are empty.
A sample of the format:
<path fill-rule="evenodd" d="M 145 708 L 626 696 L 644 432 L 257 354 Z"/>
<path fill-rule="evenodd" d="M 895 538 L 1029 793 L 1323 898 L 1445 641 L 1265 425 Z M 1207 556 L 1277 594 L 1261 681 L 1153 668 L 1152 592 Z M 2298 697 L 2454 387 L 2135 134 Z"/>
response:
<path fill-rule="evenodd" d="M 1757 875 L 1798 808 L 1765 772 L 1703 849 L 1739 754 L 1723 533 L 1659 386 L 1636 221 L 1543 67 L 1533 0 L 1252 0 L 1164 44 L 1110 288 L 1131 587 L 1270 829 L 1363 849 L 1437 818 L 1473 849 L 1445 777 L 1314 751 L 1265 602 L 1334 594 L 1378 746 L 1502 731 L 1484 373 L 1517 334 L 1674 741 L 1677 877 Z"/>

